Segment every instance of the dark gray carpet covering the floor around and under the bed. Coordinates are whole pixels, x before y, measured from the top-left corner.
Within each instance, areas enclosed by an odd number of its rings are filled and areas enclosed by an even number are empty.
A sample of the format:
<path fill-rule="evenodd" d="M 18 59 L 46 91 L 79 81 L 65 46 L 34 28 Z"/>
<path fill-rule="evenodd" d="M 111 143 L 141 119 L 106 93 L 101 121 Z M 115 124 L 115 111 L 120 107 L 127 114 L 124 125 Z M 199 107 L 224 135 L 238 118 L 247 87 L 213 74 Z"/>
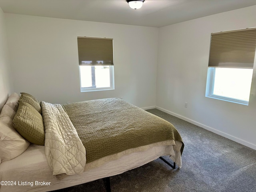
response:
<path fill-rule="evenodd" d="M 256 150 L 160 110 L 147 111 L 180 132 L 185 144 L 183 166 L 172 169 L 154 160 L 110 177 L 112 192 L 256 192 Z M 105 191 L 103 180 L 96 180 L 56 192 Z"/>

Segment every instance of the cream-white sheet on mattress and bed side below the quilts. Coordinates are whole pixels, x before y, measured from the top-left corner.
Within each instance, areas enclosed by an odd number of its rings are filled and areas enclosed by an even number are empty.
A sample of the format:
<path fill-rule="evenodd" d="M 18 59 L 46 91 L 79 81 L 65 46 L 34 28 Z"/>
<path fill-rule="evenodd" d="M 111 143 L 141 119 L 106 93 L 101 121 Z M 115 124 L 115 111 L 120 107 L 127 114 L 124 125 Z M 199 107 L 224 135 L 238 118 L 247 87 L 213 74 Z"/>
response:
<path fill-rule="evenodd" d="M 173 145 L 170 144 L 174 144 L 174 150 Z M 171 140 L 142 146 L 140 149 L 130 149 L 132 151 L 126 150 L 86 164 L 85 172 L 81 175 L 65 176 L 58 180 L 52 175 L 52 171 L 47 163 L 44 146 L 30 144 L 28 149 L 20 156 L 0 164 L 0 181 L 16 182 L 16 185 L 12 186 L 0 185 L 0 192 L 51 191 L 75 186 L 107 176 L 121 174 L 163 155 L 171 155 L 172 160 L 181 166 L 182 162 L 179 152 L 181 146 L 181 142 L 176 141 L 175 143 Z M 142 151 L 133 152 L 139 150 Z M 120 158 L 106 162 L 116 158 L 116 156 Z M 41 183 L 44 185 L 36 185 L 36 181 L 44 182 Z"/>

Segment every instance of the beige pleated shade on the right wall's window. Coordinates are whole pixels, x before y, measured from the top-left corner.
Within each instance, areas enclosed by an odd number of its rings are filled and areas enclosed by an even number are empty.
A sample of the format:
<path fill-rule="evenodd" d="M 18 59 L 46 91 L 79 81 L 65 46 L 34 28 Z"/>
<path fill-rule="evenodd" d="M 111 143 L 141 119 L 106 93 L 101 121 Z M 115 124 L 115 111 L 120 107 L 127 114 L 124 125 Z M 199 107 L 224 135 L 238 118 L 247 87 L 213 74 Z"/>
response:
<path fill-rule="evenodd" d="M 253 68 L 256 28 L 211 34 L 209 67 Z"/>

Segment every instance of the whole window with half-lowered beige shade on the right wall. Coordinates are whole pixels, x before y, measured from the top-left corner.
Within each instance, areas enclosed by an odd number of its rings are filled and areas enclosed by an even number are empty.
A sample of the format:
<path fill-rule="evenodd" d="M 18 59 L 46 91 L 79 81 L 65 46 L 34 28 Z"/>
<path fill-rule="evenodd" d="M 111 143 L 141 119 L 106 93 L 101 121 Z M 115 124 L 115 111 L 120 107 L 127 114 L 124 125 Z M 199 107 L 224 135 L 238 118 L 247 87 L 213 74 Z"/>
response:
<path fill-rule="evenodd" d="M 206 97 L 248 105 L 256 28 L 211 34 Z"/>

